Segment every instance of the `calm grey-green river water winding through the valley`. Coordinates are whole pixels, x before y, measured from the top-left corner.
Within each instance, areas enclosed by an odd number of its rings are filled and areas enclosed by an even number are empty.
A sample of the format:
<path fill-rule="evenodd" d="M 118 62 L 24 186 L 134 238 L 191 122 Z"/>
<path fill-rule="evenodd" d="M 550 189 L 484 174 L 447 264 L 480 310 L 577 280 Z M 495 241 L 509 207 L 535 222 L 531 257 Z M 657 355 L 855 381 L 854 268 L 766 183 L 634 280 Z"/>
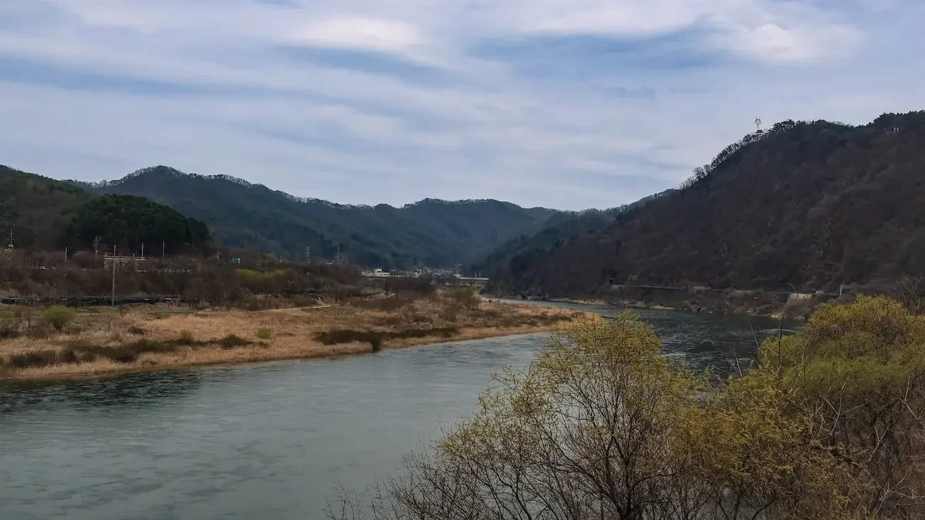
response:
<path fill-rule="evenodd" d="M 563 305 L 563 304 L 560 304 Z M 565 305 L 612 316 L 619 309 Z M 728 366 L 771 320 L 639 311 L 666 352 Z M 547 336 L 364 356 L 0 385 L 0 519 L 324 518 L 475 409 Z"/>

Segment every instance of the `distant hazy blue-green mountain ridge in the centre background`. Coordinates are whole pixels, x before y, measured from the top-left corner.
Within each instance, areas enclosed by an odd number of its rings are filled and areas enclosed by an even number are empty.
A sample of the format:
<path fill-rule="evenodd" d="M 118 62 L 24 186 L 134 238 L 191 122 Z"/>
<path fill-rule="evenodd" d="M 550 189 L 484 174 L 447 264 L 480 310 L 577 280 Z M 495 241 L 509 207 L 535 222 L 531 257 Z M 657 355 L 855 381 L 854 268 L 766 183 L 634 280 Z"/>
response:
<path fill-rule="evenodd" d="M 495 200 L 425 199 L 400 208 L 301 199 L 224 175 L 149 167 L 116 181 L 81 183 L 97 193 L 138 195 L 205 222 L 222 245 L 360 266 L 455 266 L 542 228 L 554 210 Z"/>

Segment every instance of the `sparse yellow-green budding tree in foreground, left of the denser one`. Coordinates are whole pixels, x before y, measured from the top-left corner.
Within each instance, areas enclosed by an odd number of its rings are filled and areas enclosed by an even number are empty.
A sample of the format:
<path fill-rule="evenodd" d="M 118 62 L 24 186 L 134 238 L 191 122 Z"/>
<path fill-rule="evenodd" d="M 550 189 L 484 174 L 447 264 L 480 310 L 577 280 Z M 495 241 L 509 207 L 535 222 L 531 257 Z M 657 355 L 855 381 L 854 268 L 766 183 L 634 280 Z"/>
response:
<path fill-rule="evenodd" d="M 677 426 L 700 380 L 630 314 L 554 338 L 374 501 L 376 518 L 693 518 L 706 495 Z M 675 456 L 676 455 L 676 456 Z M 691 507 L 685 507 L 690 498 Z M 669 516 L 664 516 L 669 514 Z"/>

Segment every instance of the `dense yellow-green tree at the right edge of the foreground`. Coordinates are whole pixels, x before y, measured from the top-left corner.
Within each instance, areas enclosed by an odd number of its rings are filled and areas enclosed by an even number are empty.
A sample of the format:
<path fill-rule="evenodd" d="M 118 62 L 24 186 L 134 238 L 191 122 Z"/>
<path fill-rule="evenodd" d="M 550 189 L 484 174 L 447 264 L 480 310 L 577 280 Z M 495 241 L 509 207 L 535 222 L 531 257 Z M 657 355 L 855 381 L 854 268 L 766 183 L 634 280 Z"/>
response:
<path fill-rule="evenodd" d="M 804 443 L 843 469 L 846 507 L 875 518 L 925 516 L 925 318 L 883 297 L 827 304 L 795 336 L 761 348 Z M 772 381 L 772 383 L 771 383 Z"/>

